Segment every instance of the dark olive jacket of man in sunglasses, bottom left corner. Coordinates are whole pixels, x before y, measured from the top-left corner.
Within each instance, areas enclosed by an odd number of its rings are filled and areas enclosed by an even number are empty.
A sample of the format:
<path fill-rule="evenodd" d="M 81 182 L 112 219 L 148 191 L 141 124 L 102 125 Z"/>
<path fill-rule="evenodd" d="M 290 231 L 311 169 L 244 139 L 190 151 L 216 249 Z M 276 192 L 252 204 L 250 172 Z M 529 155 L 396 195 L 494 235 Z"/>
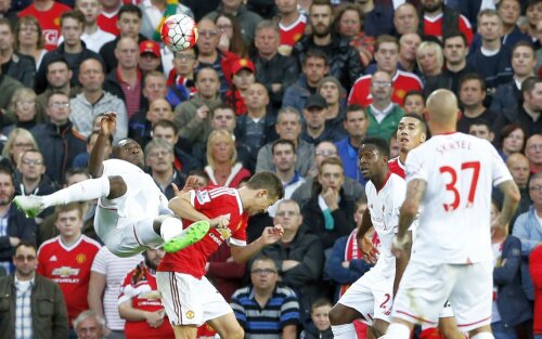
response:
<path fill-rule="evenodd" d="M 15 338 L 15 278 L 0 278 L 0 334 L 3 339 Z M 34 339 L 65 339 L 69 337 L 66 303 L 59 285 L 39 274 L 35 275 L 30 296 Z"/>

